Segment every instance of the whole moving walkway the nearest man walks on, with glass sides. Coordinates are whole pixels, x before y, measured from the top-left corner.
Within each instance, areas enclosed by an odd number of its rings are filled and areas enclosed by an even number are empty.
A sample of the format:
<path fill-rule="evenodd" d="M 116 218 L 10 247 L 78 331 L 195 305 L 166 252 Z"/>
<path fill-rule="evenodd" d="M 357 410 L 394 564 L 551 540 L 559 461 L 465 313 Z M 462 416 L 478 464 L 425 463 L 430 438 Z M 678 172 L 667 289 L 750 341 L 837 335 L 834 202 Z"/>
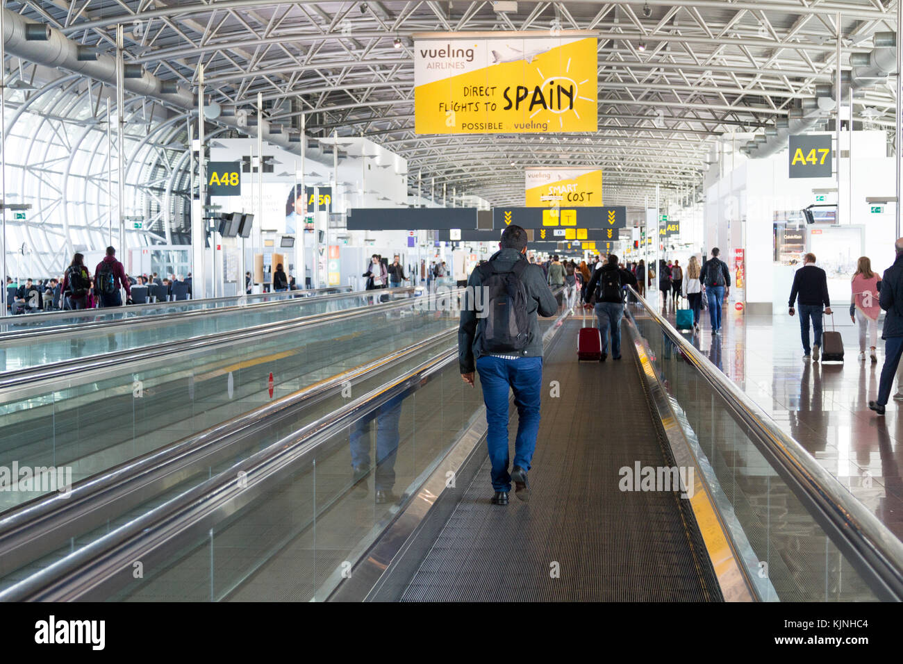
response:
<path fill-rule="evenodd" d="M 199 464 L 203 482 L 137 507 L 135 487 L 105 500 L 86 483 L 56 525 L 27 518 L 46 502 L 9 513 L 0 599 L 903 598 L 898 539 L 638 303 L 619 361 L 578 364 L 581 323 L 545 323 L 528 503 L 489 503 L 481 397 L 448 332 L 316 420 L 296 426 L 291 399 L 260 411 L 243 429 L 259 448 Z M 657 486 L 661 469 L 684 475 Z M 66 531 L 79 519 L 91 537 Z"/>

